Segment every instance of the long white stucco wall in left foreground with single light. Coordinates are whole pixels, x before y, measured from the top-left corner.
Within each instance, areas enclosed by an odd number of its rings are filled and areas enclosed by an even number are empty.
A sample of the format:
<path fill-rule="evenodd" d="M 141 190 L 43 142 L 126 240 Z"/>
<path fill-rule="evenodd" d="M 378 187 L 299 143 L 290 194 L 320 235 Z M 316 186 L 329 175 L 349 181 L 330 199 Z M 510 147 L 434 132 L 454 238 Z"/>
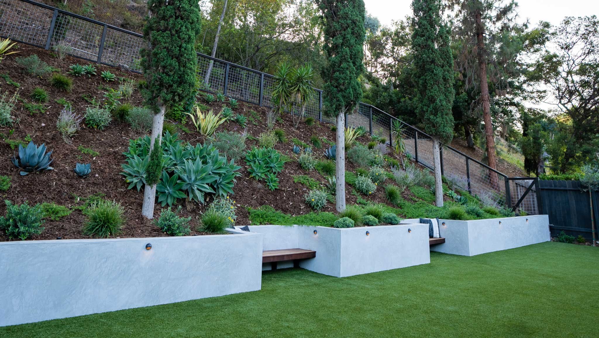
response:
<path fill-rule="evenodd" d="M 0 326 L 259 290 L 263 236 L 232 232 L 0 243 Z"/>

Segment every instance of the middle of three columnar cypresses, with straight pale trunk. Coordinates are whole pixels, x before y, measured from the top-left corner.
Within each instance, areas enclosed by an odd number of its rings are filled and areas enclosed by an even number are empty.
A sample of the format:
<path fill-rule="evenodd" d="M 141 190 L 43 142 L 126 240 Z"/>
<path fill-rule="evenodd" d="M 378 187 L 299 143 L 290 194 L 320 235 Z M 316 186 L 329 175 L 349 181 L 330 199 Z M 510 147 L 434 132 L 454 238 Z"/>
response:
<path fill-rule="evenodd" d="M 364 70 L 364 1 L 316 0 L 322 11 L 324 46 L 328 64 L 322 69 L 326 116 L 337 118 L 337 211 L 345 210 L 345 113 L 362 98 L 358 76 Z"/>

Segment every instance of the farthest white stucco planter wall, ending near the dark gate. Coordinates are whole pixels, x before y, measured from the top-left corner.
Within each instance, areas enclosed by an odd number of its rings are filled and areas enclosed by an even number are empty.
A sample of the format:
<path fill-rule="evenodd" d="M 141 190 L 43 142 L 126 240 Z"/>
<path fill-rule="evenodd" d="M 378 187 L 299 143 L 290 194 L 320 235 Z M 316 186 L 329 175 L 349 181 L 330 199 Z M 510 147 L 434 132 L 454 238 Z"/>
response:
<path fill-rule="evenodd" d="M 404 220 L 404 222 L 412 221 L 415 220 Z M 519 248 L 551 240 L 547 215 L 476 221 L 439 219 L 439 232 L 441 237 L 445 237 L 445 243 L 432 245 L 431 251 L 464 256 Z"/>

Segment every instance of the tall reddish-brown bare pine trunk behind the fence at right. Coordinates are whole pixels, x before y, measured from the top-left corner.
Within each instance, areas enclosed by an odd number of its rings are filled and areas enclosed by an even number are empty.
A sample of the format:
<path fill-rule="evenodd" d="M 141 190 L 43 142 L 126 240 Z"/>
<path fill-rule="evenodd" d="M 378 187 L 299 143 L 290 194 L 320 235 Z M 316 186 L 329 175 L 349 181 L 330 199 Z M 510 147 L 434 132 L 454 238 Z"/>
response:
<path fill-rule="evenodd" d="M 497 159 L 495 158 L 495 138 L 493 124 L 491 122 L 491 101 L 489 99 L 489 85 L 486 79 L 486 57 L 485 41 L 483 40 L 484 28 L 480 10 L 476 11 L 476 48 L 479 56 L 479 78 L 480 78 L 480 101 L 483 106 L 483 120 L 485 121 L 485 137 L 487 144 L 487 156 L 489 167 L 497 169 Z M 499 190 L 499 179 L 495 171 L 489 170 L 489 179 L 491 186 Z"/>

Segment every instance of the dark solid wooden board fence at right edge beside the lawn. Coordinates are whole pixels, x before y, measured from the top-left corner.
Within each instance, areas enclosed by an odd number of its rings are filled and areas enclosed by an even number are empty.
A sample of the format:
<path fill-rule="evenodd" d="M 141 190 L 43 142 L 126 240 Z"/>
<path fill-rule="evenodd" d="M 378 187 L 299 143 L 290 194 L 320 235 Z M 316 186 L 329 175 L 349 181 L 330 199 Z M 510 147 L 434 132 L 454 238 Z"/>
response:
<path fill-rule="evenodd" d="M 540 180 L 543 213 L 549 215 L 551 236 L 560 231 L 592 240 L 589 192 L 582 191 L 579 181 Z M 593 192 L 595 232 L 599 219 L 599 192 Z M 595 234 L 597 238 L 597 234 Z"/>

